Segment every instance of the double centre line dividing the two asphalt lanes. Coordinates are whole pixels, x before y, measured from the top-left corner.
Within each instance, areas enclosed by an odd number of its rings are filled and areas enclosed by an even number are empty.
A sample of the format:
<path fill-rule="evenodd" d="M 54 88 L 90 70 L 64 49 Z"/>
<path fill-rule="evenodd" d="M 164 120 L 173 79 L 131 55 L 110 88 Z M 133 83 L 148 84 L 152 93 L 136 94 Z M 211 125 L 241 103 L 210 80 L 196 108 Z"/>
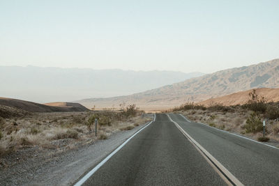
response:
<path fill-rule="evenodd" d="M 243 185 L 232 173 L 230 173 L 223 164 L 218 162 L 213 155 L 211 155 L 205 148 L 203 148 L 193 137 L 191 137 L 183 128 L 172 120 L 172 118 L 167 114 L 167 117 L 169 118 L 169 121 L 172 121 L 176 127 L 179 128 L 179 130 L 182 132 L 182 134 L 197 148 L 199 153 L 202 154 L 202 156 L 206 159 L 207 162 L 213 167 L 213 169 L 219 174 L 223 180 L 225 180 L 225 183 L 227 185 Z"/>

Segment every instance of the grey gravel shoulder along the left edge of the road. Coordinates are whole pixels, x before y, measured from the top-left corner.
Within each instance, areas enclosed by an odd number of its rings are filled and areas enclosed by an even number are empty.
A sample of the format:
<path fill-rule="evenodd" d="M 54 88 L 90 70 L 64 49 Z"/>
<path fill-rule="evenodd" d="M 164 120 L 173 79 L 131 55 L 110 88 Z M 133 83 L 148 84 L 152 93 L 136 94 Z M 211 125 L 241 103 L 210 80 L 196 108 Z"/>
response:
<path fill-rule="evenodd" d="M 86 171 L 98 164 L 144 125 L 137 126 L 133 130 L 115 132 L 109 139 L 93 141 L 91 144 L 75 146 L 61 152 L 52 153 L 50 149 L 36 147 L 20 150 L 9 155 L 8 166 L 5 157 L 0 161 L 0 183 L 1 185 L 73 185 Z"/>

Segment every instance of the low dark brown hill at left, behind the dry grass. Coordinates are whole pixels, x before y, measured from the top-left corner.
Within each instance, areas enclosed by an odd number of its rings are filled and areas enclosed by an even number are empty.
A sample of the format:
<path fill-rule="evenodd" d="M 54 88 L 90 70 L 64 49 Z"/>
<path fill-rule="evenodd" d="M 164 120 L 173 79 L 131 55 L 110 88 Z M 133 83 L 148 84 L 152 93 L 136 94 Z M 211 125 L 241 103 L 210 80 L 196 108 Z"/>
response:
<path fill-rule="evenodd" d="M 52 103 L 49 103 L 50 105 Z M 8 107 L 13 107 L 16 109 L 22 109 L 23 111 L 30 112 L 50 112 L 50 111 L 88 111 L 86 107 L 78 103 L 63 103 L 64 106 L 59 106 L 58 104 L 50 106 L 47 104 L 39 104 L 36 102 L 28 102 L 24 100 L 16 100 L 11 98 L 0 98 L 0 105 L 5 105 Z M 60 103 L 62 105 L 62 103 Z"/>

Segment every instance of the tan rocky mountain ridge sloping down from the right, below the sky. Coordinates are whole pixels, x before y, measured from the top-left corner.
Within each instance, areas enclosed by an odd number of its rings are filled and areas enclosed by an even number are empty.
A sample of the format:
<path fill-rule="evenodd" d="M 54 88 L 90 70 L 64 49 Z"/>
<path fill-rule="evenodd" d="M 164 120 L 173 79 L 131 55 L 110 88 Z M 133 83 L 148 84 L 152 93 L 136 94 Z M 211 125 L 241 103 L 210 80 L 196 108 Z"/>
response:
<path fill-rule="evenodd" d="M 146 110 L 168 109 L 184 102 L 200 102 L 251 88 L 279 88 L 279 59 L 265 63 L 221 70 L 202 77 L 162 86 L 128 96 L 80 100 L 86 107 L 118 107 L 135 103 Z"/>

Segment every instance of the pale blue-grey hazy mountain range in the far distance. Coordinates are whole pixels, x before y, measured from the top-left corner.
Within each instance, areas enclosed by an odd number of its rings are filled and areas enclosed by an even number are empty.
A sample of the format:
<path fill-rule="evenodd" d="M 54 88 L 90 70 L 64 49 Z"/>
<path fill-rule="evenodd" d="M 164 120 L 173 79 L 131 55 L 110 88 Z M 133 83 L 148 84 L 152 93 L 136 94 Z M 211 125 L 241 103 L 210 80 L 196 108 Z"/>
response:
<path fill-rule="evenodd" d="M 129 95 L 203 75 L 200 72 L 0 66 L 0 97 L 33 102 Z"/>

